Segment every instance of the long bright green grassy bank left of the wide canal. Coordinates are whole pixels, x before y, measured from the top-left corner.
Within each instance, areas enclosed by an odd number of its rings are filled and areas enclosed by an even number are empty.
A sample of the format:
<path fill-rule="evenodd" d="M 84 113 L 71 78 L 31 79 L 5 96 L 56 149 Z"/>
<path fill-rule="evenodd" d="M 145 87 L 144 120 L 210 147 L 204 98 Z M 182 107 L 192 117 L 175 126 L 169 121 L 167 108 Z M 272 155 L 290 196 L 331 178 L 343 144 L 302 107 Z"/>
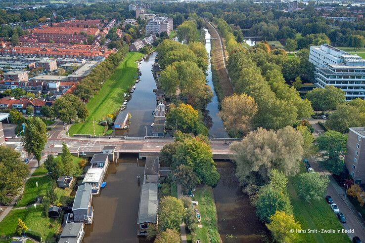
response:
<path fill-rule="evenodd" d="M 98 122 L 106 115 L 118 111 L 123 103 L 123 93 L 132 86 L 137 76 L 137 63 L 143 54 L 129 52 L 115 70 L 114 74 L 103 84 L 102 88 L 88 104 L 89 117 L 85 122 L 74 123 L 70 127 L 70 135 L 93 134 L 92 118 L 95 121 L 95 135 L 104 133 L 104 126 Z"/>

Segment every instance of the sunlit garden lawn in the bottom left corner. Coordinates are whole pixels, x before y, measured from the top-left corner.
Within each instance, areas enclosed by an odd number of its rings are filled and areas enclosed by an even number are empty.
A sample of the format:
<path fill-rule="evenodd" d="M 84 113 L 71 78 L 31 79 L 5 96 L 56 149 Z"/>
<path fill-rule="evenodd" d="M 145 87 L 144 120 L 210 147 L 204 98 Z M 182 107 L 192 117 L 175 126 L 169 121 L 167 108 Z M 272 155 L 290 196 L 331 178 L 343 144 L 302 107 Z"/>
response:
<path fill-rule="evenodd" d="M 46 218 L 42 206 L 27 209 L 12 209 L 0 222 L 1 235 L 13 236 L 18 225 L 18 218 L 22 219 L 29 230 L 40 233 L 46 242 L 54 242 L 54 235 L 58 232 L 58 220 Z"/>

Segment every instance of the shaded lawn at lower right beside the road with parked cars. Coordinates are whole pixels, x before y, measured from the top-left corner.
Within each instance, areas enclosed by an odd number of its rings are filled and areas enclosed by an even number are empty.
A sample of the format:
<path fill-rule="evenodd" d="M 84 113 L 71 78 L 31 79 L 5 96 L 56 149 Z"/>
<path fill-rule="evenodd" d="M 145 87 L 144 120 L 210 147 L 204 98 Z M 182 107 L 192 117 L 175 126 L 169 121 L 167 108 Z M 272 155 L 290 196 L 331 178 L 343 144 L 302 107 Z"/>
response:
<path fill-rule="evenodd" d="M 301 172 L 305 173 L 304 168 L 302 168 Z M 287 187 L 291 204 L 293 205 L 295 220 L 300 222 L 302 229 L 318 229 L 319 231 L 317 234 L 302 234 L 303 242 L 350 242 L 349 237 L 344 233 L 320 233 L 320 229 L 343 229 L 324 198 L 313 204 L 302 201 L 298 196 L 300 191 L 298 176 L 289 178 Z"/>

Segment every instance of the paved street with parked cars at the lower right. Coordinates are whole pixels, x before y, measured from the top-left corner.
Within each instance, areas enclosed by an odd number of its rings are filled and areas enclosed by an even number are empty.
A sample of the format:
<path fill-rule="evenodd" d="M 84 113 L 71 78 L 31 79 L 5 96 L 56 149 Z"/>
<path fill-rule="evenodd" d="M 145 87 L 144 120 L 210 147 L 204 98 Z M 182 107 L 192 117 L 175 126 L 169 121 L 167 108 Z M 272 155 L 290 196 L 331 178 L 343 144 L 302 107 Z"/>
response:
<path fill-rule="evenodd" d="M 346 223 L 341 223 L 343 225 L 343 228 L 345 230 L 353 230 L 354 232 L 349 232 L 348 236 L 352 239 L 354 236 L 360 237 L 360 239 L 364 242 L 365 241 L 365 221 L 364 219 L 358 214 L 354 206 L 349 202 L 348 199 L 345 199 L 345 187 L 341 188 L 337 182 L 333 179 L 331 173 L 329 173 L 326 170 L 322 170 L 319 167 L 319 164 L 317 160 L 312 158 L 310 160 L 310 163 L 312 167 L 315 169 L 315 171 L 321 172 L 323 174 L 326 174 L 329 176 L 330 183 L 327 187 L 327 195 L 330 195 L 334 201 L 334 203 L 337 204 L 338 208 L 340 209 L 340 212 L 342 212 L 346 219 Z M 324 200 L 324 199 L 323 199 Z M 328 204 L 329 206 L 329 204 Z"/>

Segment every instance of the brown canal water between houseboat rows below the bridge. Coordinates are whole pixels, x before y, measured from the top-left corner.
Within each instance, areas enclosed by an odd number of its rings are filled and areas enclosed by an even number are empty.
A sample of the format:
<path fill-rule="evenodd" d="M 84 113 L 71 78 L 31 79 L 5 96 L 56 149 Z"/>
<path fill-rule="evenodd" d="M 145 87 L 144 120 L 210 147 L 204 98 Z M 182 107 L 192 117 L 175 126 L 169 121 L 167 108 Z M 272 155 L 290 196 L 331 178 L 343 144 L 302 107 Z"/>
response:
<path fill-rule="evenodd" d="M 83 243 L 147 242 L 137 238 L 137 216 L 140 186 L 137 176 L 143 178 L 145 160 L 123 155 L 118 162 L 111 162 L 104 181 L 106 187 L 92 197 L 94 217 L 85 226 Z"/>

